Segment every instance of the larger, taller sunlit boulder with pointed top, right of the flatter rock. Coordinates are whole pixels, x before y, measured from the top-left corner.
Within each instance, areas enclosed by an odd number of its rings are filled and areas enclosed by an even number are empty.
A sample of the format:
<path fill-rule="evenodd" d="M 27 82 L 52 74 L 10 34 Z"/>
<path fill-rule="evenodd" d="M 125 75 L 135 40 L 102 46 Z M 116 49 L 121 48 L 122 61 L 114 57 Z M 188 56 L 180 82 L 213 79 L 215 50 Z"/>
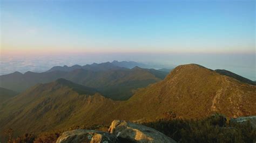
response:
<path fill-rule="evenodd" d="M 153 128 L 123 120 L 112 121 L 109 132 L 119 140 L 131 142 L 176 142 Z"/>

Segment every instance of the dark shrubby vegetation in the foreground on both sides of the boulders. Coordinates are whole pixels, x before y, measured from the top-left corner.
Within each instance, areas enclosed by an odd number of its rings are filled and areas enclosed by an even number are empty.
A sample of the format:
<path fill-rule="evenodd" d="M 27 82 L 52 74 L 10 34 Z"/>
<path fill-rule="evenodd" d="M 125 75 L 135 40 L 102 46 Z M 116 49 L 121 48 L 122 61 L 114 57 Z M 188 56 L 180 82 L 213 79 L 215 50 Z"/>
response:
<path fill-rule="evenodd" d="M 141 123 L 154 128 L 178 142 L 254 142 L 256 130 L 251 121 L 245 124 L 233 123 L 229 118 L 218 113 L 204 119 L 158 119 Z M 72 126 L 64 130 L 52 130 L 40 134 L 24 133 L 12 138 L 14 130 L 6 130 L 5 140 L 15 142 L 55 142 L 65 131 L 76 129 L 98 130 L 107 132 L 110 125 Z M 11 137 L 11 138 L 10 138 Z"/>

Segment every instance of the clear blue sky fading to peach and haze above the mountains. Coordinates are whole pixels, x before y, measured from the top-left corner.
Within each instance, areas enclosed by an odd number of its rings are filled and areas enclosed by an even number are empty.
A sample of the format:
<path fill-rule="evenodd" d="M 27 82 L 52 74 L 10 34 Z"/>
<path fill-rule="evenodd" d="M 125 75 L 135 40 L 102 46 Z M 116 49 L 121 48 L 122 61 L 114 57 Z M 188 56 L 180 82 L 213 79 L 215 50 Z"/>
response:
<path fill-rule="evenodd" d="M 256 80 L 255 1 L 0 2 L 2 69 L 13 59 L 71 64 L 65 55 L 72 63 L 197 62 Z"/>

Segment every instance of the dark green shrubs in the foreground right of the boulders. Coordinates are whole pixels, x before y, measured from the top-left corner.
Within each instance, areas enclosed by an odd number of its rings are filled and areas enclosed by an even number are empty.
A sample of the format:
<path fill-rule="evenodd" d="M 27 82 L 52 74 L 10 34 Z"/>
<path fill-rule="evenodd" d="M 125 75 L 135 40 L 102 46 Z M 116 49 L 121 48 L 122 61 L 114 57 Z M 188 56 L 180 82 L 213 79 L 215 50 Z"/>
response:
<path fill-rule="evenodd" d="M 255 128 L 247 124 L 229 123 L 229 119 L 215 114 L 201 120 L 159 119 L 143 125 L 152 127 L 179 142 L 253 142 Z"/>

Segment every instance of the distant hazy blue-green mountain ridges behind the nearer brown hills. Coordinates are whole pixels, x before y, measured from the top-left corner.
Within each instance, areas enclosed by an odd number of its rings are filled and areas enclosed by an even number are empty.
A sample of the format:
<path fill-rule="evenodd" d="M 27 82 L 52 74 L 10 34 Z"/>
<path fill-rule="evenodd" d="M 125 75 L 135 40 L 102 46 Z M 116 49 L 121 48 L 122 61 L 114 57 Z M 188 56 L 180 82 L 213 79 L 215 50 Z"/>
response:
<path fill-rule="evenodd" d="M 136 62 L 93 63 L 92 65 L 72 67 L 53 67 L 44 73 L 28 71 L 24 74 L 15 72 L 0 76 L 0 87 L 22 92 L 37 83 L 48 83 L 65 78 L 72 82 L 97 89 L 105 97 L 124 100 L 132 96 L 133 90 L 163 80 L 168 74 L 156 69 L 132 69 L 118 66 L 135 66 Z"/>

